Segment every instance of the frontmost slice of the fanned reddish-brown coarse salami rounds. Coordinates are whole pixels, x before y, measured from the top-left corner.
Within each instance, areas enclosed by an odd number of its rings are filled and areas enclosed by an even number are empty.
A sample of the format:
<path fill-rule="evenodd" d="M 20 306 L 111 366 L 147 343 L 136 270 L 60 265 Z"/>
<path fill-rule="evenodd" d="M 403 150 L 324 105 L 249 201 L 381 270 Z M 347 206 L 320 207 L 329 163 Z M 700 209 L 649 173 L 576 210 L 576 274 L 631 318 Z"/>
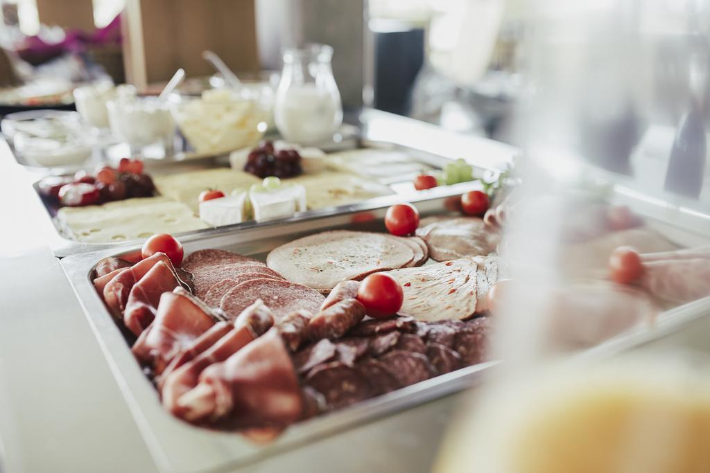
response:
<path fill-rule="evenodd" d="M 300 284 L 293 284 L 278 279 L 252 279 L 230 289 L 219 303 L 219 307 L 231 318 L 239 316 L 241 311 L 251 306 L 257 299 L 273 312 L 275 323 L 297 310 L 303 309 L 317 313 L 324 297 Z"/>

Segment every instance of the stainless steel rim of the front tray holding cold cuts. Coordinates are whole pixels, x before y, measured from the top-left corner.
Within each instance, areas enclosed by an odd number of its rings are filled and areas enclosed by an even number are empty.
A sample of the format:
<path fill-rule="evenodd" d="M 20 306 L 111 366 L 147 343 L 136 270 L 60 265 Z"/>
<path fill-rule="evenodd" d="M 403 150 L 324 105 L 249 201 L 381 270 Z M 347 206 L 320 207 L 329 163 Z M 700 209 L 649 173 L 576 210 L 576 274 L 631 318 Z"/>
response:
<path fill-rule="evenodd" d="M 443 191 L 444 189 L 439 189 Z M 615 189 L 615 201 L 629 204 L 635 211 L 649 218 L 649 224 L 684 245 L 697 245 L 710 240 L 710 217 L 684 211 L 665 211 L 652 199 L 643 199 L 635 192 Z M 424 193 L 422 193 L 424 194 Z M 439 213 L 444 207 L 446 193 L 418 197 L 415 202 L 422 216 Z M 667 209 L 666 209 L 667 210 Z M 382 229 L 383 206 L 366 210 L 311 216 L 281 223 L 246 226 L 241 229 L 221 228 L 205 233 L 185 235 L 185 252 L 203 248 L 222 248 L 241 254 L 263 258 L 273 247 L 308 233 L 330 228 L 363 230 Z M 405 389 L 369 399 L 355 406 L 290 426 L 283 435 L 269 445 L 257 445 L 241 435 L 196 428 L 173 418 L 163 410 L 158 393 L 141 371 L 131 354 L 124 335 L 114 323 L 99 296 L 94 291 L 89 273 L 102 257 L 121 255 L 137 250 L 139 245 L 124 245 L 98 252 L 74 255 L 61 260 L 80 304 L 84 308 L 109 366 L 126 397 L 131 412 L 160 469 L 172 472 L 226 471 L 297 448 L 317 438 L 333 435 L 362 423 L 370 423 L 395 412 L 424 404 L 478 382 L 495 365 L 488 362 L 459 369 L 444 376 L 408 386 Z M 620 335 L 589 355 L 603 357 L 630 347 L 649 343 L 665 335 L 676 333 L 688 323 L 703 319 L 710 313 L 710 298 L 695 301 L 666 311 L 653 326 L 639 327 Z"/>

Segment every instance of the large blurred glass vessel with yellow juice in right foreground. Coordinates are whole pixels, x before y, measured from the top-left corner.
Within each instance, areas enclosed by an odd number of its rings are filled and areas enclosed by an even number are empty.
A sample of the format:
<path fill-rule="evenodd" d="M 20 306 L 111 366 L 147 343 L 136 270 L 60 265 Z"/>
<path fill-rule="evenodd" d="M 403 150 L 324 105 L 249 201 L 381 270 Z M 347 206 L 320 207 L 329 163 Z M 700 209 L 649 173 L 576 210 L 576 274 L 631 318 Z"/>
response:
<path fill-rule="evenodd" d="M 530 2 L 520 184 L 486 214 L 504 235 L 491 304 L 504 362 L 437 472 L 710 471 L 707 362 L 572 359 L 710 296 L 710 247 L 672 225 L 682 206 L 710 208 L 709 6 Z"/>

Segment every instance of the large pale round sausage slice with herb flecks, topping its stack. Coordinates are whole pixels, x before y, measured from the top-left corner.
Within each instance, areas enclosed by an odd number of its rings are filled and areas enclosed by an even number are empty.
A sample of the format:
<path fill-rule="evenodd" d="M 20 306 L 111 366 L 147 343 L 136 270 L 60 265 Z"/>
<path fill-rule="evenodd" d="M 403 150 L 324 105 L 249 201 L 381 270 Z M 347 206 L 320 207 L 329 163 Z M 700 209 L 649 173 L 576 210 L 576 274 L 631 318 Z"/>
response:
<path fill-rule="evenodd" d="M 346 279 L 405 267 L 413 259 L 412 248 L 389 235 L 334 230 L 281 245 L 266 264 L 289 281 L 325 291 Z"/>

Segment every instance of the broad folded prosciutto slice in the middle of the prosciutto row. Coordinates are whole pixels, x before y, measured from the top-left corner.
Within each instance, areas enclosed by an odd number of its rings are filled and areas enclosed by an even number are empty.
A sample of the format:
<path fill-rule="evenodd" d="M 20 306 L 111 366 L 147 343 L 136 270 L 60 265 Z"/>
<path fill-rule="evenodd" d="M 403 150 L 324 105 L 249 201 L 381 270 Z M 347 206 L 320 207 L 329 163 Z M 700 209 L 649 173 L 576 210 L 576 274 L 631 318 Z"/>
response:
<path fill-rule="evenodd" d="M 182 287 L 163 292 L 155 321 L 133 344 L 133 355 L 144 365 L 152 365 L 155 374 L 159 375 L 173 357 L 212 328 L 216 318 L 216 314 Z"/>

